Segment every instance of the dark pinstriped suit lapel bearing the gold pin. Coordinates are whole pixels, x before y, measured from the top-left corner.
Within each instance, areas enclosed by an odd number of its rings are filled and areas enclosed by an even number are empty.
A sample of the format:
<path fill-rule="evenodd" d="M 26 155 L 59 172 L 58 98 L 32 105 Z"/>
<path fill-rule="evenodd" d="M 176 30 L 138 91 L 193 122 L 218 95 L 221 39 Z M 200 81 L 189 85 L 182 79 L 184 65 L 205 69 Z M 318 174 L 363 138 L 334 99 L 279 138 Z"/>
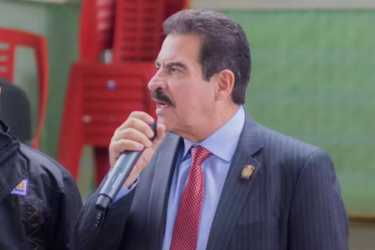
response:
<path fill-rule="evenodd" d="M 263 146 L 258 126 L 246 114 L 240 141 L 233 155 L 211 225 L 207 249 L 226 249 L 229 239 L 232 237 L 239 213 L 261 168 L 260 163 L 252 158 L 252 155 L 257 153 Z M 245 165 L 254 167 L 254 172 L 248 180 L 240 178 Z"/>

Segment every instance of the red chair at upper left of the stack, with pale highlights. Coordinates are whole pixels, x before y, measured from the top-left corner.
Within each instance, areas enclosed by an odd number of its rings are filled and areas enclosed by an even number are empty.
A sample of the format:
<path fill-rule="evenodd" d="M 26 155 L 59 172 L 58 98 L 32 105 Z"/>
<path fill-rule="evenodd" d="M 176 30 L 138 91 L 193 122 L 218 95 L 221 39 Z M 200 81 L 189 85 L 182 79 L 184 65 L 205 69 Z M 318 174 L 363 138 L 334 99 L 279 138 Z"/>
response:
<path fill-rule="evenodd" d="M 79 59 L 98 61 L 113 47 L 116 0 L 83 0 L 79 33 Z"/>

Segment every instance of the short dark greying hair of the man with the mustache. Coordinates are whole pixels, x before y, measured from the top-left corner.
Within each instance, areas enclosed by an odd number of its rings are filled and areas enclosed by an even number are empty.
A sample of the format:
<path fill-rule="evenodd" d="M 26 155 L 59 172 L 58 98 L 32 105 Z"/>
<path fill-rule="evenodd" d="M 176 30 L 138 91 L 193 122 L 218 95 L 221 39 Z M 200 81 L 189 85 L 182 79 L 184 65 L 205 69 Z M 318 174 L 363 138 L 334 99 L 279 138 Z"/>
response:
<path fill-rule="evenodd" d="M 241 25 L 229 16 L 211 10 L 186 9 L 165 20 L 169 34 L 196 34 L 201 37 L 199 62 L 205 81 L 224 69 L 234 74 L 232 100 L 245 103 L 251 71 L 249 42 Z"/>

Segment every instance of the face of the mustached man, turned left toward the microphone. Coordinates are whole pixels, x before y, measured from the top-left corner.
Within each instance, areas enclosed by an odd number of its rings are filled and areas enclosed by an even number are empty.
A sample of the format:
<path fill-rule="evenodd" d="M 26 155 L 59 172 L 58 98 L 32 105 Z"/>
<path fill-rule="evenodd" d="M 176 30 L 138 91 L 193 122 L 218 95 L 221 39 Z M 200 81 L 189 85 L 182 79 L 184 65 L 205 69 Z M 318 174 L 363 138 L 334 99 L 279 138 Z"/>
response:
<path fill-rule="evenodd" d="M 156 60 L 158 71 L 148 83 L 158 123 L 177 135 L 199 129 L 215 105 L 215 77 L 203 80 L 200 44 L 195 35 L 167 36 Z"/>

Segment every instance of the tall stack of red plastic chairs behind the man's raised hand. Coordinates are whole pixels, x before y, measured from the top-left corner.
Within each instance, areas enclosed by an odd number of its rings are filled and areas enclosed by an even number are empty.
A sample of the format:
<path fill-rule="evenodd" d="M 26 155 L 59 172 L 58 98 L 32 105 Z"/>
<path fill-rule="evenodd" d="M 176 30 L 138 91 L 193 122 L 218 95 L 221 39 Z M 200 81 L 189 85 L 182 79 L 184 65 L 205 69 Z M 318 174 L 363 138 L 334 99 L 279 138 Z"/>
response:
<path fill-rule="evenodd" d="M 167 0 L 83 1 L 80 61 L 71 68 L 57 156 L 76 180 L 84 145 L 94 148 L 98 186 L 110 167 L 108 146 L 115 129 L 132 111 L 154 115 L 147 84 L 156 73 L 166 4 Z M 98 61 L 109 48 L 113 62 Z"/>

